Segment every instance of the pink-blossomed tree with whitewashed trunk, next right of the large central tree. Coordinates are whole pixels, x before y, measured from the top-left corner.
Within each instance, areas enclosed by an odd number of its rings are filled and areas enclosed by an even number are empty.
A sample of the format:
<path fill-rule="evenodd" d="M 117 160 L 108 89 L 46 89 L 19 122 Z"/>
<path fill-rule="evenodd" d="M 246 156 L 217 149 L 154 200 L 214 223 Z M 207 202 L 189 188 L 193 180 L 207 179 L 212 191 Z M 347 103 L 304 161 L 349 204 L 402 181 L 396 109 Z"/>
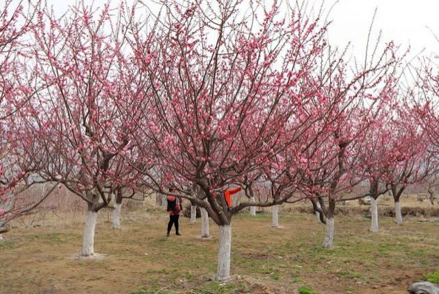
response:
<path fill-rule="evenodd" d="M 279 173 L 277 186 L 279 191 L 287 188 L 287 193 L 296 192 L 289 202 L 311 200 L 318 217 L 326 223 L 324 247 L 332 246 L 336 201 L 361 182 L 355 175 L 360 159 L 358 145 L 373 127 L 371 119 L 386 111 L 396 86 L 394 75 L 400 59 L 394 50 L 392 43 L 380 54 L 375 47 L 374 54 L 366 53 L 364 65 L 354 67 L 355 71 L 337 48 L 327 45 L 318 56 L 321 65 L 314 72 L 318 92 L 307 112 L 319 119 L 286 149 L 288 170 Z M 295 191 L 288 187 L 295 187 Z"/>

